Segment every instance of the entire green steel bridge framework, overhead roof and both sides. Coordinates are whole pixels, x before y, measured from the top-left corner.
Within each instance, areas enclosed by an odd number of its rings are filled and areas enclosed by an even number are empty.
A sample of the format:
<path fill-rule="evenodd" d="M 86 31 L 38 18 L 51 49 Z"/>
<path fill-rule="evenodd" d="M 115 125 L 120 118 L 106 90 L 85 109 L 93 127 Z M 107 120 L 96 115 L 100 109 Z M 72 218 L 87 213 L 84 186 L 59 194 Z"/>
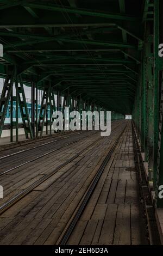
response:
<path fill-rule="evenodd" d="M 132 114 L 156 207 L 163 207 L 163 2 L 1 0 L 0 17 L 0 136 L 13 101 L 27 138 L 42 136 L 48 107 L 51 114 L 65 106 L 105 109 L 114 119 Z M 32 89 L 31 121 L 23 84 Z M 37 89 L 43 90 L 39 115 Z M 11 114 L 11 139 L 13 127 L 18 140 L 18 114 L 16 121 Z"/>

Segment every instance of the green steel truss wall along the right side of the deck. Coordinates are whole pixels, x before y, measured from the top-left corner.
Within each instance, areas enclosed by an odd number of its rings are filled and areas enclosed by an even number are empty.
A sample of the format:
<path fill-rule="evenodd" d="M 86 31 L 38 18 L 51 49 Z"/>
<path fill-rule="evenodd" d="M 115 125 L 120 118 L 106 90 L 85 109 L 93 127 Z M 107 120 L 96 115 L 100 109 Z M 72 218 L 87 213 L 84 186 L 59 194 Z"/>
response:
<path fill-rule="evenodd" d="M 159 57 L 158 46 L 163 42 L 162 10 L 160 0 L 146 1 L 146 13 L 153 7 L 153 18 L 144 19 L 145 44 L 141 52 L 139 83 L 133 107 L 133 121 L 142 153 L 148 162 L 148 179 L 153 183 L 155 205 L 163 207 L 158 197 L 163 185 L 163 127 L 162 127 L 162 70 L 163 60 Z M 151 11 L 152 12 L 152 11 Z"/>

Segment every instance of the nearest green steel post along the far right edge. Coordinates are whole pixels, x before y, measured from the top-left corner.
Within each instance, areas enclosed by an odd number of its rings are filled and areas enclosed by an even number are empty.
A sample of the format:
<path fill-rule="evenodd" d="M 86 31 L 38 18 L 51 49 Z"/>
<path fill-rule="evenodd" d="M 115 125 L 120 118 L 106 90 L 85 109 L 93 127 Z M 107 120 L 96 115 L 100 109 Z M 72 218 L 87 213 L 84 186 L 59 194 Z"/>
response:
<path fill-rule="evenodd" d="M 161 0 L 154 1 L 154 188 L 156 192 L 156 206 L 163 207 L 163 198 L 159 196 L 163 186 L 163 60 L 159 57 L 158 46 L 163 43 L 163 4 Z"/>

